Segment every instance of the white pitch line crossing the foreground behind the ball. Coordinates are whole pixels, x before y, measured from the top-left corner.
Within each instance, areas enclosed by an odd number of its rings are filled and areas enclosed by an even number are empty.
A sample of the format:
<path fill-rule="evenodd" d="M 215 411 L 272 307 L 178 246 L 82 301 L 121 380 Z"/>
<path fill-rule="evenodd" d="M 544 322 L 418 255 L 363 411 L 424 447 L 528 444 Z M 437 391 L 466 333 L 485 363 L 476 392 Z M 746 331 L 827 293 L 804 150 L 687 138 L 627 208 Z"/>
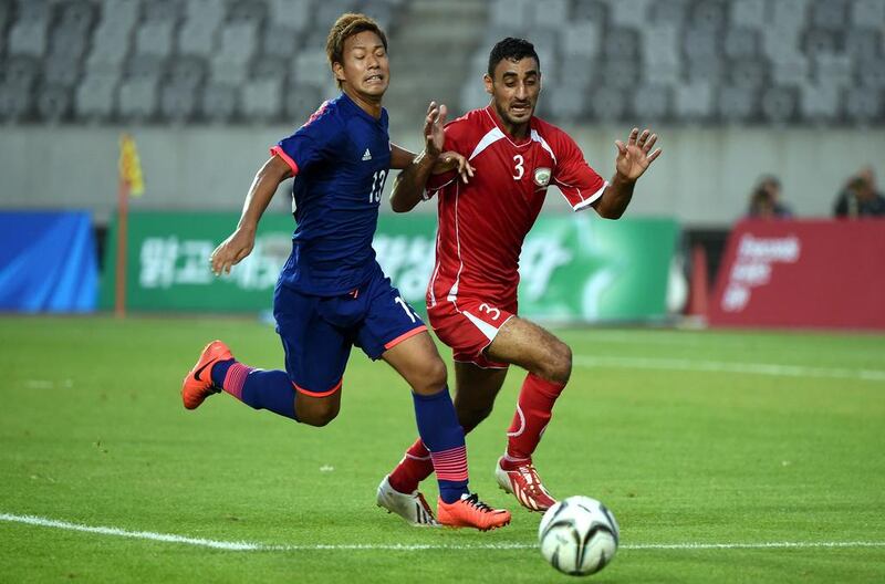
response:
<path fill-rule="evenodd" d="M 424 551 L 424 550 L 532 550 L 538 548 L 533 543 L 521 542 L 489 542 L 489 543 L 345 543 L 345 544 L 268 544 L 246 541 L 220 541 L 204 538 L 188 538 L 171 533 L 155 533 L 153 531 L 128 531 L 119 528 L 83 525 L 55 519 L 34 515 L 15 515 L 0 513 L 0 521 L 24 523 L 41 528 L 55 528 L 69 531 L 97 533 L 100 535 L 114 535 L 135 540 L 149 540 L 166 543 L 185 543 L 215 550 L 231 552 L 303 552 L 303 551 Z M 750 542 L 750 543 L 637 543 L 622 545 L 622 550 L 768 550 L 783 548 L 885 548 L 885 541 L 847 541 L 847 542 Z"/>

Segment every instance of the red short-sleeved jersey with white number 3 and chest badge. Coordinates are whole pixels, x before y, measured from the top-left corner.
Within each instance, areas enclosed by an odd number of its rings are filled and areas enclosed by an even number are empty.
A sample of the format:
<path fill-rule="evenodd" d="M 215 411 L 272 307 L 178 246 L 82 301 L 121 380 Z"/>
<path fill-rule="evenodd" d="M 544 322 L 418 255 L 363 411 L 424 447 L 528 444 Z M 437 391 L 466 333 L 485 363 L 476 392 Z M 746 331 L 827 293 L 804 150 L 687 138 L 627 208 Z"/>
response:
<path fill-rule="evenodd" d="M 590 207 L 607 182 L 584 160 L 560 128 L 532 117 L 530 135 L 513 142 L 491 105 L 446 125 L 444 150 L 455 150 L 476 169 L 465 185 L 455 173 L 427 182 L 426 197 L 439 199 L 436 264 L 427 305 L 473 298 L 516 301 L 519 254 L 550 185 L 572 209 Z"/>

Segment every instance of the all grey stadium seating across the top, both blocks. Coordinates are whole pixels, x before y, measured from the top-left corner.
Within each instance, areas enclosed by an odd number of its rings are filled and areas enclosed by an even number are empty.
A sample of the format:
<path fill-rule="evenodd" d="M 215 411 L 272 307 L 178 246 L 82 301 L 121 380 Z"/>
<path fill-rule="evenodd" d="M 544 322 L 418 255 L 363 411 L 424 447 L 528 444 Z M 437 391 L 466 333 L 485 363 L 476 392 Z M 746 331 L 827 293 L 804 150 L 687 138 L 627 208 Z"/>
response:
<path fill-rule="evenodd" d="M 468 49 L 473 56 L 446 65 L 459 109 L 487 100 L 477 77 L 491 44 L 521 35 L 541 56 L 541 113 L 555 121 L 885 123 L 882 0 L 480 3 L 485 33 Z M 395 35 L 410 7 L 3 0 L 0 122 L 291 122 L 334 91 L 325 32 L 354 9 Z"/>

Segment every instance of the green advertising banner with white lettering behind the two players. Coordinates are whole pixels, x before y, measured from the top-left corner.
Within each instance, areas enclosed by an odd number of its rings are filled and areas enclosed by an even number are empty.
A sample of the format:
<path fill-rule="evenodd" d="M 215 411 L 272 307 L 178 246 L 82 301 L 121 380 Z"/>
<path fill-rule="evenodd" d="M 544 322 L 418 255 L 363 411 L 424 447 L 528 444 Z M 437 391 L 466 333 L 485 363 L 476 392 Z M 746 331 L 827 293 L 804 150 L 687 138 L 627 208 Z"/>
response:
<path fill-rule="evenodd" d="M 129 223 L 128 306 L 160 311 L 270 309 L 294 229 L 291 216 L 266 216 L 251 255 L 230 275 L 216 278 L 209 255 L 237 223 L 236 213 L 136 212 Z M 108 241 L 115 240 L 114 229 Z M 676 236 L 671 220 L 606 221 L 590 211 L 540 218 L 520 255 L 520 314 L 555 321 L 664 316 Z M 374 248 L 403 298 L 423 307 L 434 270 L 436 218 L 382 215 Z M 105 307 L 114 265 L 111 249 L 104 261 Z"/>

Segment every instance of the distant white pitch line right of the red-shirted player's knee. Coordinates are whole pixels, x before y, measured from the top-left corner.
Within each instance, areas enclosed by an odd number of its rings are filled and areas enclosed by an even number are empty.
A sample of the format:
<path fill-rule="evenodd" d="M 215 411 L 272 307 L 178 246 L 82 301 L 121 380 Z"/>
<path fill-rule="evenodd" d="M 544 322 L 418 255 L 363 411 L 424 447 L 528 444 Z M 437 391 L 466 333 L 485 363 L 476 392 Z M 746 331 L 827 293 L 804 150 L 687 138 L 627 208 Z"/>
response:
<path fill-rule="evenodd" d="M 844 369 L 829 367 L 802 367 L 799 365 L 775 365 L 770 363 L 729 363 L 719 361 L 695 361 L 648 357 L 607 357 L 575 355 L 580 367 L 602 367 L 618 369 L 684 371 L 705 373 L 737 373 L 743 375 L 770 375 L 774 377 L 819 377 L 827 379 L 860 379 L 863 382 L 885 382 L 885 371 Z"/>

